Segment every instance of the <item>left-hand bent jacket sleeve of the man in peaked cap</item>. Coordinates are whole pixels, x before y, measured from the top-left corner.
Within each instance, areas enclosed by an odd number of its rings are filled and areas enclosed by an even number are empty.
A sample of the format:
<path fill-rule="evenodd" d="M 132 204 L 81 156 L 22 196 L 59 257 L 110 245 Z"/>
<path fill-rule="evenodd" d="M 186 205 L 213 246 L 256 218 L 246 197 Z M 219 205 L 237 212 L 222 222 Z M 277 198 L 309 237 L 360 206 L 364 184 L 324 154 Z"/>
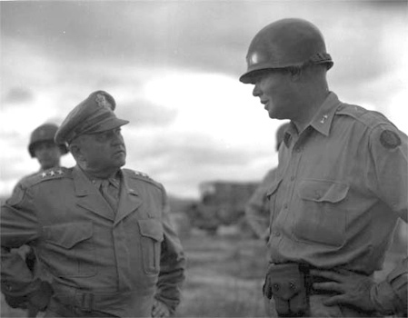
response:
<path fill-rule="evenodd" d="M 1 211 L 2 292 L 12 297 L 24 296 L 38 288 L 25 260 L 11 251 L 38 237 L 35 214 L 30 211 L 30 195 L 18 184 Z"/>

